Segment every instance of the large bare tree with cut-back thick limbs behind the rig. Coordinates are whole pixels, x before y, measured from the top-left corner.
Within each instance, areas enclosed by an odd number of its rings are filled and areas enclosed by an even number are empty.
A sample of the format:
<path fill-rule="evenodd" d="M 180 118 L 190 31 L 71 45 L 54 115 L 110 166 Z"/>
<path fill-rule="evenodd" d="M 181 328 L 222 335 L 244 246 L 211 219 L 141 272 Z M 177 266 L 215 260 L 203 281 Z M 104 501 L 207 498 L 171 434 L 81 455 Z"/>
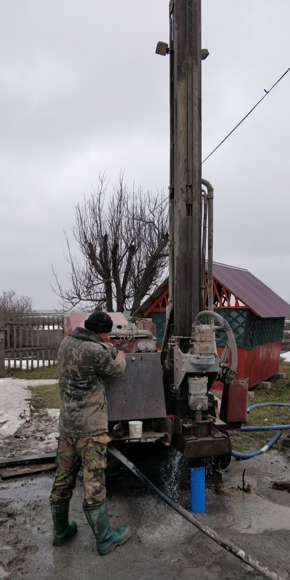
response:
<path fill-rule="evenodd" d="M 99 174 L 96 190 L 75 206 L 73 238 L 67 233 L 65 257 L 70 265 L 70 288 L 64 289 L 55 270 L 55 287 L 64 310 L 104 306 L 108 312 L 133 313 L 161 282 L 168 263 L 168 211 L 163 191 L 129 191 L 120 172 L 107 195 L 108 182 Z"/>

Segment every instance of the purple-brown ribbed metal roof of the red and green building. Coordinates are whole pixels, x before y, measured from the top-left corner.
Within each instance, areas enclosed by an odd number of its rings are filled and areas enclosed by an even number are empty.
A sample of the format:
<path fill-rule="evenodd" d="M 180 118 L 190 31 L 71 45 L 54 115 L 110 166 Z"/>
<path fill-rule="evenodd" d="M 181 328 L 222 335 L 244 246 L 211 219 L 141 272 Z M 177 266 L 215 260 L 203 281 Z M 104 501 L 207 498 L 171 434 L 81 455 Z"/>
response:
<path fill-rule="evenodd" d="M 284 318 L 290 314 L 290 305 L 256 276 L 253 276 L 249 270 L 213 262 L 213 277 L 237 296 L 240 302 L 262 318 Z M 150 298 L 147 298 L 137 312 L 141 314 L 148 310 L 164 292 L 166 285 L 168 285 L 168 278 Z"/>

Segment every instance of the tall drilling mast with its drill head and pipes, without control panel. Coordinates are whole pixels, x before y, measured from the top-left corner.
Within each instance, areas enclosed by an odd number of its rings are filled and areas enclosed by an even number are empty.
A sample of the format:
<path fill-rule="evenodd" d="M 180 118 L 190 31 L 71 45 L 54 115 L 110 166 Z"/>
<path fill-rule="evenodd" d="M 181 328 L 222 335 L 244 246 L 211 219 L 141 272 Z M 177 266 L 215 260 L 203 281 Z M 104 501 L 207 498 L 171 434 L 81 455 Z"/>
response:
<path fill-rule="evenodd" d="M 224 463 L 231 454 L 227 429 L 245 421 L 247 387 L 234 380 L 233 332 L 213 309 L 213 187 L 201 178 L 201 65 L 209 54 L 201 49 L 201 0 L 171 0 L 169 44 L 158 42 L 156 52 L 170 59 L 169 308 L 161 354 L 167 430 L 187 458 L 218 456 Z M 227 334 L 222 364 L 220 331 Z M 209 394 L 217 378 L 224 383 L 223 421 Z"/>

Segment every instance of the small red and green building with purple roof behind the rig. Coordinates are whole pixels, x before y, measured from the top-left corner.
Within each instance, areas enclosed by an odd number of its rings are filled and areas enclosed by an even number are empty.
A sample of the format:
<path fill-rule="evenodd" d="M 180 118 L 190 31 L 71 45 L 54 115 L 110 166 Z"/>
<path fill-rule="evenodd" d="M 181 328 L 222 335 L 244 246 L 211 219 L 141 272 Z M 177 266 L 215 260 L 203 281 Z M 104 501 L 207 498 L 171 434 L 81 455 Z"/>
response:
<path fill-rule="evenodd" d="M 234 332 L 238 347 L 237 378 L 248 377 L 249 387 L 253 387 L 273 376 L 278 371 L 284 322 L 290 305 L 248 270 L 218 262 L 213 263 L 213 304 Z M 166 306 L 168 278 L 134 313 L 134 316 L 152 318 L 158 345 L 162 343 Z M 218 342 L 219 354 L 223 351 L 222 344 Z"/>

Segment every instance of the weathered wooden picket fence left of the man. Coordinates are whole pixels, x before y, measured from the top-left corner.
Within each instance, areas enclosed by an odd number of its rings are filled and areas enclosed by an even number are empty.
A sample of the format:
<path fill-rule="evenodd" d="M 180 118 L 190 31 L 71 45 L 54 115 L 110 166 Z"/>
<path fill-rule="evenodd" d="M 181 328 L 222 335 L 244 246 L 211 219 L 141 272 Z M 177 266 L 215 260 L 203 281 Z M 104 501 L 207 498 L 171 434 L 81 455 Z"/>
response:
<path fill-rule="evenodd" d="M 50 367 L 57 362 L 59 345 L 63 339 L 63 317 L 33 316 L 4 320 L 2 336 L 4 340 L 2 358 L 5 359 L 5 367 L 9 370 L 20 368 L 28 371 L 42 366 Z"/>

